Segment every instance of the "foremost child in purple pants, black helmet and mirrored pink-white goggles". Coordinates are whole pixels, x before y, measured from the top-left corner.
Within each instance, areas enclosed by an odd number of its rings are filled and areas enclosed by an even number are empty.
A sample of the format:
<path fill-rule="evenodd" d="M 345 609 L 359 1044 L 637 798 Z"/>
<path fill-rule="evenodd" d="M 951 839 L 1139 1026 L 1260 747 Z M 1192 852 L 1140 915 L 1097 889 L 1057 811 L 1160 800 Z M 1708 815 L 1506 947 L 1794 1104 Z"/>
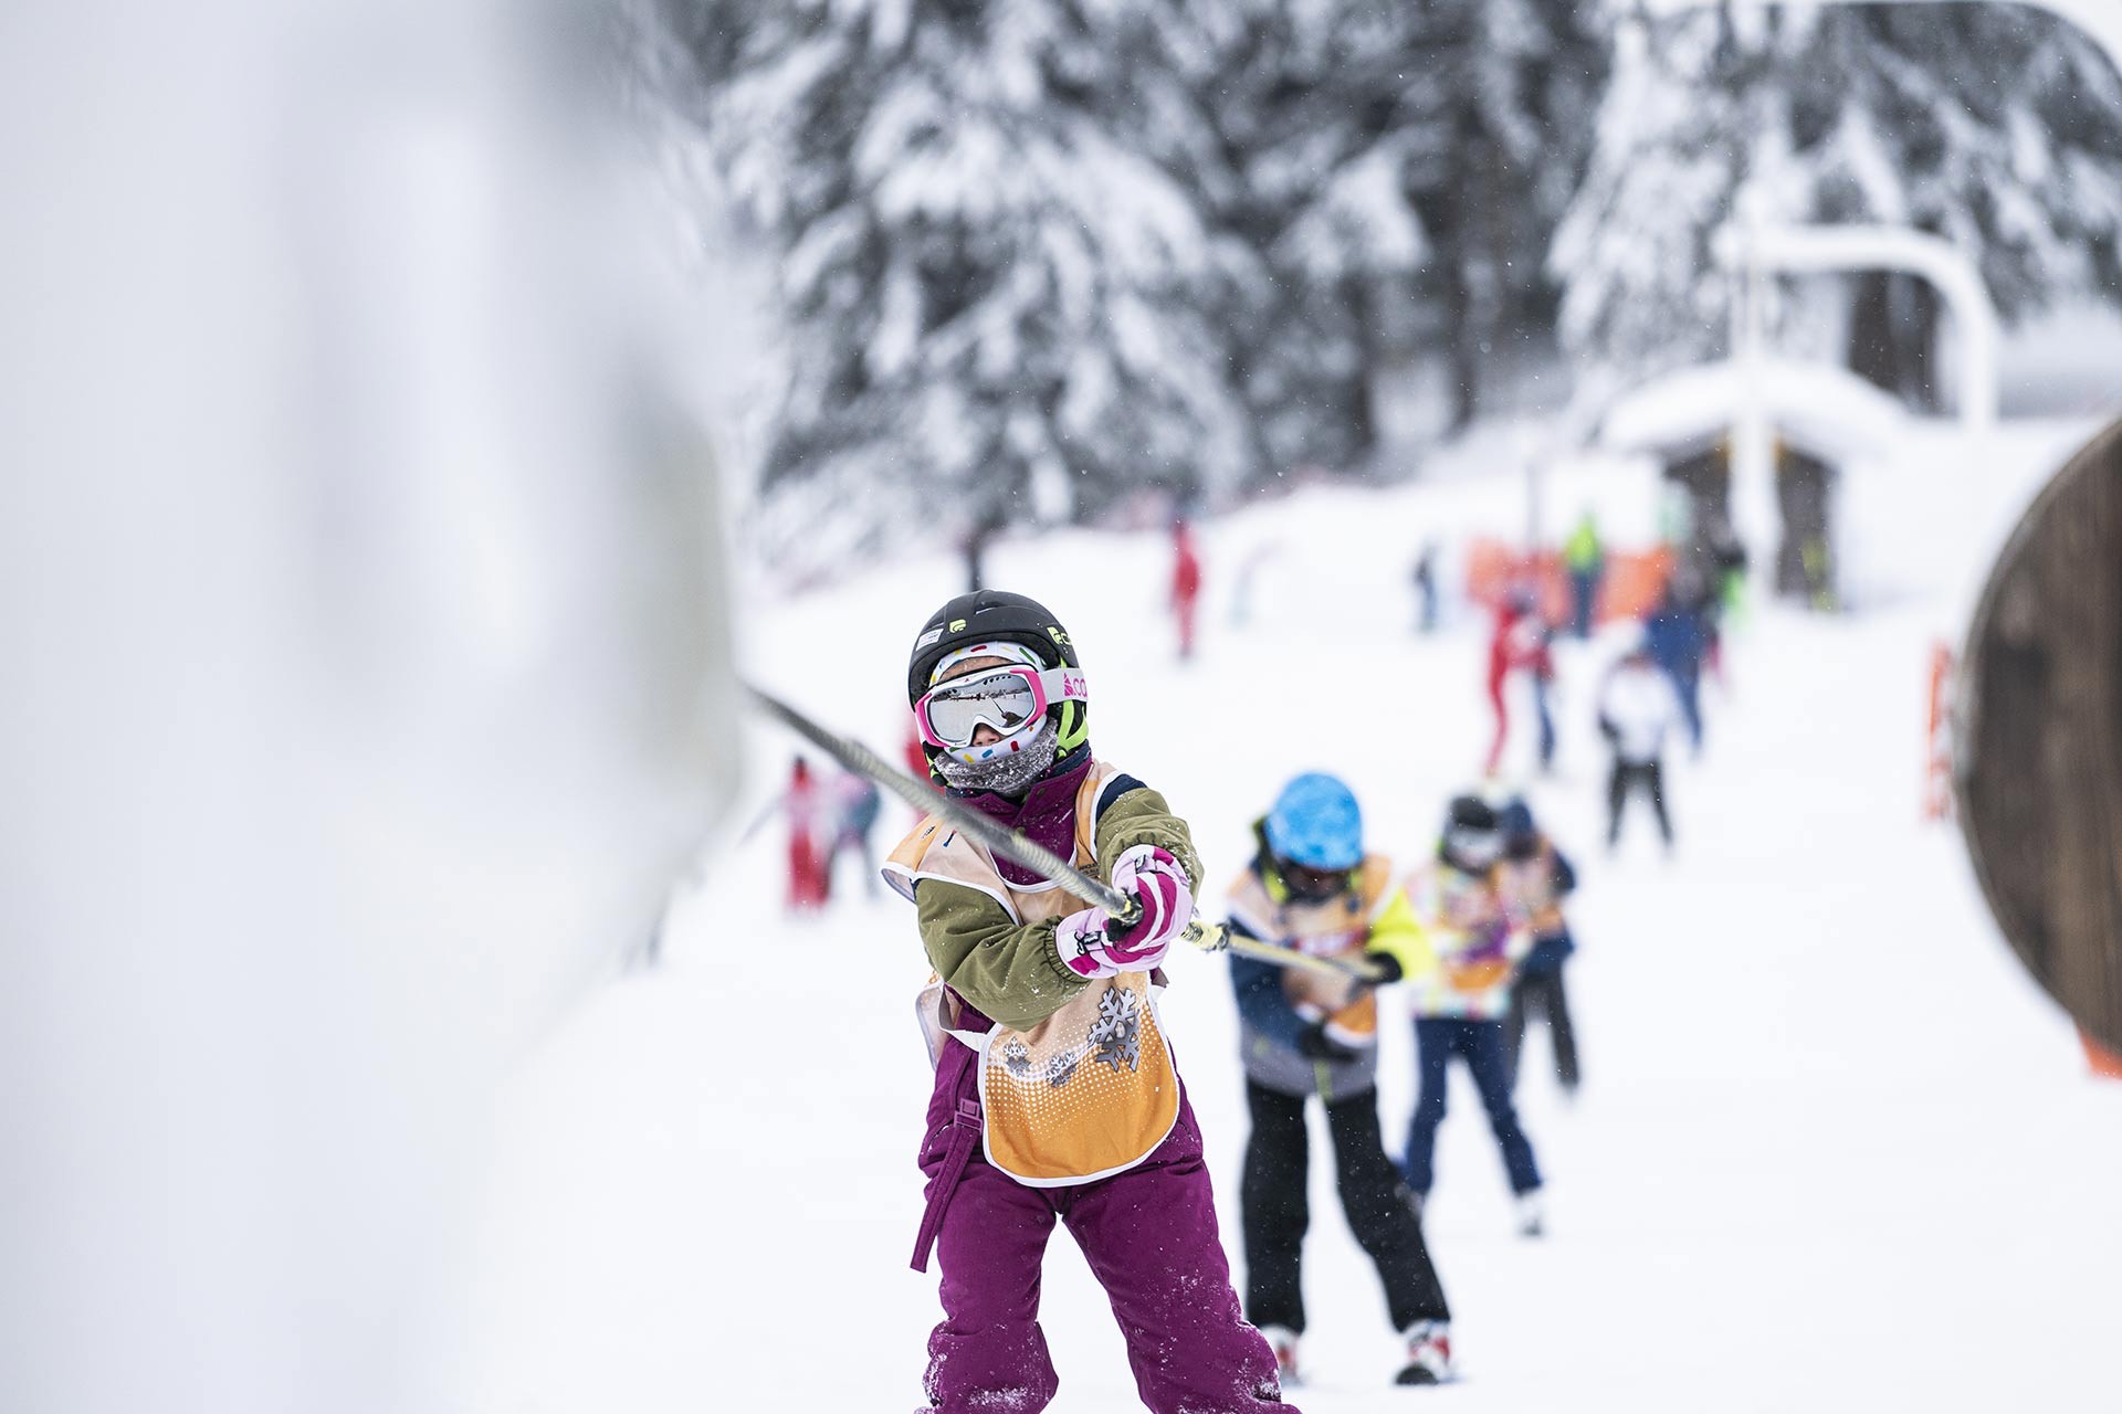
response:
<path fill-rule="evenodd" d="M 1057 1389 L 1038 1325 L 1061 1221 L 1106 1287 L 1156 1414 L 1286 1410 L 1275 1357 L 1231 1289 L 1201 1130 L 1165 1043 L 1159 962 L 1193 916 L 1186 823 L 1091 755 L 1067 634 L 1019 594 L 944 604 L 915 638 L 906 695 L 951 797 L 1074 856 L 1142 903 L 1133 926 L 923 820 L 885 865 L 919 909 L 936 979 L 921 1170 L 944 1319 L 936 1414 L 1036 1414 Z"/>

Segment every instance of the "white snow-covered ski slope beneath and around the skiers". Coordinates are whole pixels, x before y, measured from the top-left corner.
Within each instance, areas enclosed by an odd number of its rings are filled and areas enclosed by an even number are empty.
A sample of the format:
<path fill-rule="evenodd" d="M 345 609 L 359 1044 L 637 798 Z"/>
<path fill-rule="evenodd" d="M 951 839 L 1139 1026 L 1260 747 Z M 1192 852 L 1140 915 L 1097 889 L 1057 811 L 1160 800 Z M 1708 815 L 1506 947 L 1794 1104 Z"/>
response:
<path fill-rule="evenodd" d="M 2086 430 L 2022 426 L 1969 454 L 1923 426 L 1850 488 L 1850 566 L 1874 611 L 1761 613 L 1710 697 L 1710 750 L 1674 772 L 1681 848 L 1649 820 L 1598 848 L 1598 644 L 1564 644 L 1562 774 L 1532 799 L 1583 867 L 1570 971 L 1585 1094 L 1530 1077 L 1549 1177 L 1545 1242 L 1509 1236 L 1471 1085 L 1439 1149 L 1430 1242 L 1466 1382 L 1394 1391 L 1375 1278 L 1314 1151 L 1311 1414 L 1396 1410 L 2105 1410 L 2122 1314 L 2122 1085 L 2084 1077 L 2022 977 L 1956 837 L 1918 823 L 1925 661 L 1978 555 Z M 1570 494 L 1640 511 L 1623 469 Z M 1923 494 L 1931 511 L 1891 528 Z M 1161 536 L 1008 543 L 999 583 L 1082 644 L 1099 753 L 1159 784 L 1220 880 L 1292 772 L 1347 774 L 1373 839 L 1424 848 L 1485 746 L 1481 625 L 1407 632 L 1422 538 L 1515 534 L 1515 477 L 1388 494 L 1314 490 L 1207 528 L 1205 647 L 1171 661 Z M 1252 619 L 1235 568 L 1275 543 Z M 904 651 L 957 587 L 902 564 L 741 623 L 751 672 L 876 746 L 900 740 Z M 1297 723 L 1330 725 L 1303 731 Z M 755 727 L 753 799 L 792 740 Z M 1513 759 L 1524 742 L 1513 744 Z M 738 812 L 745 816 L 749 812 Z M 904 810 L 887 806 L 881 837 Z M 484 1414 L 910 1410 L 934 1274 L 906 1270 L 927 1073 L 910 909 L 779 914 L 775 829 L 726 852 L 673 914 L 666 965 L 584 1007 L 518 1079 L 480 1234 Z M 1218 890 L 1207 890 L 1214 897 Z M 1246 1138 L 1218 960 L 1176 958 L 1165 1013 L 1214 1151 L 1233 1255 Z M 1545 1037 L 1534 1041 L 1534 1058 Z M 1388 1143 L 1411 1037 L 1386 1035 Z M 1118 1333 L 1065 1236 L 1048 1261 L 1059 1414 L 1133 1399 Z"/>

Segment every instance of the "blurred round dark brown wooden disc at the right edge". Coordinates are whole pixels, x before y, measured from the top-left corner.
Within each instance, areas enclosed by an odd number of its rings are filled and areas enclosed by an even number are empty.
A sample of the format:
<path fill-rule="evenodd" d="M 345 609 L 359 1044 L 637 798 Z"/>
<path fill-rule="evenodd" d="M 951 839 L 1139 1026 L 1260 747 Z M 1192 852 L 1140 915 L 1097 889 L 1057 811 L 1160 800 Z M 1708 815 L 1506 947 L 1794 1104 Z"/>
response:
<path fill-rule="evenodd" d="M 2122 424 L 2071 458 L 1969 625 L 1961 829 L 2012 950 L 2122 1049 Z"/>

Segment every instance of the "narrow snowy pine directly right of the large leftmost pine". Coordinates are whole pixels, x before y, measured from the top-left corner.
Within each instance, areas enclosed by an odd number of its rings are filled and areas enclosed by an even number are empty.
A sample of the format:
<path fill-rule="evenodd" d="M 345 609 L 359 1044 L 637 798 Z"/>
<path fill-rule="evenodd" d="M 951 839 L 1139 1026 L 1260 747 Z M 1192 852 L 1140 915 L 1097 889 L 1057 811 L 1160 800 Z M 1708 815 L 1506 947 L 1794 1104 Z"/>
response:
<path fill-rule="evenodd" d="M 1218 235 L 1212 310 L 1260 481 L 1356 466 L 1377 439 L 1373 303 L 1424 257 L 1407 30 L 1401 6 L 1356 0 L 1165 8 L 1195 117 L 1159 125 L 1156 159 Z"/>

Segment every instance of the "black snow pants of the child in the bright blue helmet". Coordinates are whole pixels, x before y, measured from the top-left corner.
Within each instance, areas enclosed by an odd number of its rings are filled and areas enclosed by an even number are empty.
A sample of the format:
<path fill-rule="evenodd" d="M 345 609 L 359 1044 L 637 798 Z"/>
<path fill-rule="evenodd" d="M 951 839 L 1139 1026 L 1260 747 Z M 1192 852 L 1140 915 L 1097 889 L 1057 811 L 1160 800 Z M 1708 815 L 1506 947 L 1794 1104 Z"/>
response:
<path fill-rule="evenodd" d="M 1275 1094 L 1246 1081 L 1252 1109 L 1252 1138 L 1246 1143 L 1246 1181 L 1239 1210 L 1246 1225 L 1246 1319 L 1254 1325 L 1305 1329 L 1305 1297 L 1299 1278 L 1305 1225 L 1307 1134 L 1305 1100 Z M 1445 1291 L 1422 1242 L 1422 1221 L 1407 1204 L 1401 1170 L 1386 1157 L 1377 1130 L 1377 1092 L 1345 1096 L 1326 1104 L 1333 1134 L 1335 1181 L 1341 1210 L 1356 1242 L 1377 1266 L 1386 1287 L 1392 1329 L 1415 1321 L 1449 1321 Z"/>

